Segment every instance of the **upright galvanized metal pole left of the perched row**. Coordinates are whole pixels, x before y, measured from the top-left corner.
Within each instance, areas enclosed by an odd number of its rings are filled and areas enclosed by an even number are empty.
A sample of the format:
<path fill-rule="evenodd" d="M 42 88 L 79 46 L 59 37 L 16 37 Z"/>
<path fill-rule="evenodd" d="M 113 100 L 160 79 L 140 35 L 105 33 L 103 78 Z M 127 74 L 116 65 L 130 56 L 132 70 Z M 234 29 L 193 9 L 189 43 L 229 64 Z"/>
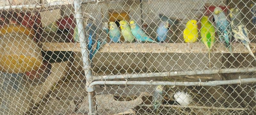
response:
<path fill-rule="evenodd" d="M 83 11 L 82 11 L 82 0 L 74 0 L 74 8 L 75 8 L 75 18 L 76 18 L 76 27 L 79 34 L 79 42 L 81 46 L 81 52 L 82 52 L 82 60 L 83 60 L 83 69 L 85 72 L 85 78 L 86 78 L 86 88 L 89 87 L 92 80 L 92 70 L 90 69 L 90 61 L 88 60 L 88 52 L 86 48 L 86 42 L 85 42 L 85 29 L 84 29 L 84 21 L 83 21 Z M 93 87 L 90 87 L 91 90 L 88 91 L 88 100 L 89 100 L 89 114 L 92 114 L 93 111 L 96 111 L 96 107 L 93 106 L 93 100 L 92 96 L 95 94 Z M 88 90 L 88 89 L 86 89 Z M 95 102 L 95 101 L 94 101 Z M 95 108 L 93 108 L 95 107 Z"/>

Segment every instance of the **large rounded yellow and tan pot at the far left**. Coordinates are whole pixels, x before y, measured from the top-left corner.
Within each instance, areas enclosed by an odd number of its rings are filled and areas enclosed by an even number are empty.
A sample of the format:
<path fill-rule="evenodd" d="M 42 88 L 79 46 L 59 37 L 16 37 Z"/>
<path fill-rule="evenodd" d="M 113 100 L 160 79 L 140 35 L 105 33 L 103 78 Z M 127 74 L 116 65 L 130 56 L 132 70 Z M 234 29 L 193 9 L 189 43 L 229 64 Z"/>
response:
<path fill-rule="evenodd" d="M 38 70 L 43 58 L 33 41 L 35 31 L 21 25 L 6 25 L 0 29 L 0 71 L 25 73 Z"/>

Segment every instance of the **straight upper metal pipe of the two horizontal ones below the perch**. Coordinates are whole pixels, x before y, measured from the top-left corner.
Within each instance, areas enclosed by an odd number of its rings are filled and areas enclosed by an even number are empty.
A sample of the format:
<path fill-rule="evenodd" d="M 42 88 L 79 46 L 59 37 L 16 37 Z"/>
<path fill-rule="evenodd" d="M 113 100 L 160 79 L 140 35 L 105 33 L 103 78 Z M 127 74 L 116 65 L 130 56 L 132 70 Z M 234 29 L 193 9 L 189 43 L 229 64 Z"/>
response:
<path fill-rule="evenodd" d="M 93 76 L 94 80 L 109 80 L 109 79 L 128 79 L 142 77 L 166 77 L 178 75 L 199 75 L 199 74 L 214 74 L 214 73 L 240 73 L 240 72 L 255 72 L 255 67 L 248 68 L 229 68 L 229 69 L 212 69 L 212 70 L 195 70 L 195 71 L 178 71 L 178 72 L 162 72 L 162 73 L 135 73 L 135 74 L 120 74 L 120 75 L 103 75 Z"/>

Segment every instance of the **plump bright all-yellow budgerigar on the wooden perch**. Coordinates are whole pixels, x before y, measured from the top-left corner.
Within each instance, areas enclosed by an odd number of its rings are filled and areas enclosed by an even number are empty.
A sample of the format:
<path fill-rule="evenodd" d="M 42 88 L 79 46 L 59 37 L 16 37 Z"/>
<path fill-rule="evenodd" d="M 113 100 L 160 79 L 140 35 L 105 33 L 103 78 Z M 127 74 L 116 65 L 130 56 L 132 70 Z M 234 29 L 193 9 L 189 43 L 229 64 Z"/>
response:
<path fill-rule="evenodd" d="M 194 43 L 198 38 L 197 21 L 189 20 L 186 24 L 186 28 L 183 31 L 183 39 L 186 43 Z"/>

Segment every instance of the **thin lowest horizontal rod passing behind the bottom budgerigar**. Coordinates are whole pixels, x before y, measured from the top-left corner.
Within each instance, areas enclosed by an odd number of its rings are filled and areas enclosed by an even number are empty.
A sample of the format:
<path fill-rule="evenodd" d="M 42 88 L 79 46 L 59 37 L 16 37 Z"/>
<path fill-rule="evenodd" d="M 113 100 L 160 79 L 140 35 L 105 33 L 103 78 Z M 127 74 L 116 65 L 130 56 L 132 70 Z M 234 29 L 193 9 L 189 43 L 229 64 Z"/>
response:
<path fill-rule="evenodd" d="M 142 104 L 141 107 L 152 107 L 153 105 Z M 245 111 L 249 110 L 248 108 L 230 108 L 230 107 L 207 107 L 207 106 L 182 106 L 182 105 L 163 105 L 162 107 L 181 107 L 181 108 L 200 108 L 200 109 L 216 109 L 216 110 L 236 110 L 236 111 Z"/>

